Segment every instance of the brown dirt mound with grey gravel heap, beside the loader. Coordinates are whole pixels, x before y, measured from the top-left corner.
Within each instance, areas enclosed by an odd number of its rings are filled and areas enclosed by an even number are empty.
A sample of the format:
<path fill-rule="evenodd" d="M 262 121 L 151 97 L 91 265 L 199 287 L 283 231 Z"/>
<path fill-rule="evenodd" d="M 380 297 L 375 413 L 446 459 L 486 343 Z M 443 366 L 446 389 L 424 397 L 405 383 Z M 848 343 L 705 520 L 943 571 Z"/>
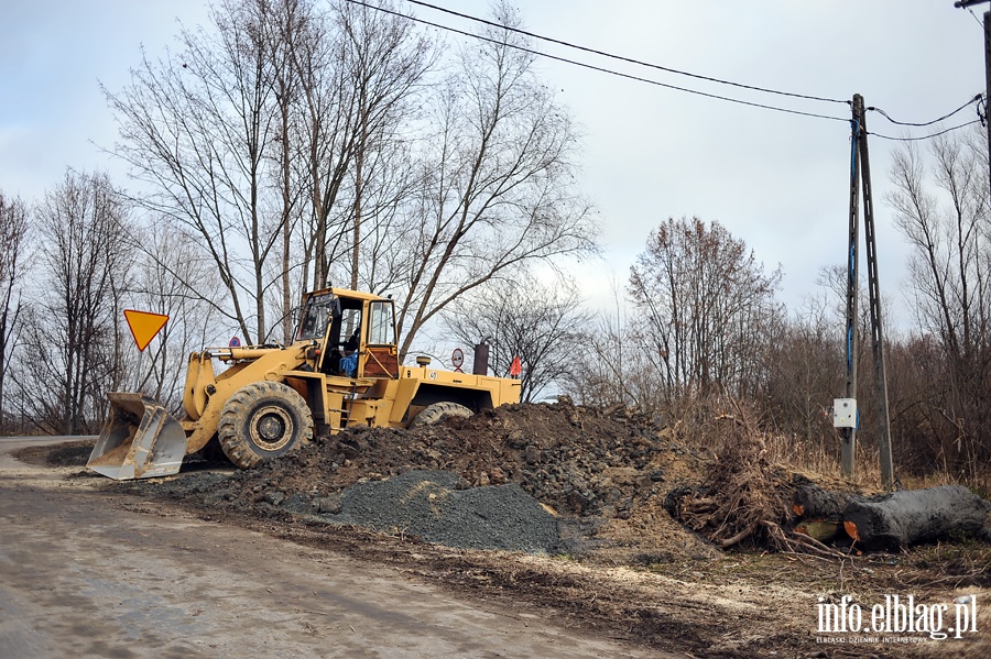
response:
<path fill-rule="evenodd" d="M 650 564 L 712 556 L 664 508 L 674 488 L 701 480 L 709 459 L 661 417 L 563 402 L 407 430 L 352 428 L 253 470 L 121 486 L 451 547 Z"/>

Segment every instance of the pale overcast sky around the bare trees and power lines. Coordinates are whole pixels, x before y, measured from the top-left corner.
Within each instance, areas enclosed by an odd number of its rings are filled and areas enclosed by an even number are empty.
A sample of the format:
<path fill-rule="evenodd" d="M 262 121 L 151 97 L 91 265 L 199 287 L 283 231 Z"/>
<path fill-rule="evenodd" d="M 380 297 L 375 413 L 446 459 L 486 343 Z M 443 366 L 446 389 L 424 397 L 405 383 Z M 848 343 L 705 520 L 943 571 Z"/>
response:
<path fill-rule="evenodd" d="M 486 17 L 483 0 L 434 4 Z M 121 169 L 101 147 L 116 139 L 98 81 L 120 89 L 143 47 L 174 44 L 179 21 L 205 23 L 203 0 L 0 0 L 0 190 L 40 198 L 66 167 Z M 403 11 L 459 29 L 469 22 L 398 0 Z M 537 34 L 661 66 L 784 91 L 849 99 L 895 119 L 935 119 L 983 90 L 980 17 L 952 0 L 532 0 L 520 3 Z M 976 15 L 974 15 L 976 14 Z M 456 37 L 453 37 L 456 39 Z M 843 105 L 744 92 L 559 46 L 541 48 L 653 80 L 848 118 Z M 843 263 L 850 129 L 693 96 L 543 59 L 584 133 L 581 180 L 600 213 L 606 259 L 580 267 L 596 303 L 667 217 L 718 220 L 769 268 L 784 271 L 789 307 L 815 295 L 823 266 Z M 976 118 L 968 108 L 945 127 Z M 868 128 L 904 129 L 868 116 Z M 926 129 L 915 129 L 924 134 Z M 906 245 L 883 198 L 893 144 L 872 139 L 882 294 L 905 325 L 899 288 Z M 576 268 L 576 272 L 579 270 Z"/>

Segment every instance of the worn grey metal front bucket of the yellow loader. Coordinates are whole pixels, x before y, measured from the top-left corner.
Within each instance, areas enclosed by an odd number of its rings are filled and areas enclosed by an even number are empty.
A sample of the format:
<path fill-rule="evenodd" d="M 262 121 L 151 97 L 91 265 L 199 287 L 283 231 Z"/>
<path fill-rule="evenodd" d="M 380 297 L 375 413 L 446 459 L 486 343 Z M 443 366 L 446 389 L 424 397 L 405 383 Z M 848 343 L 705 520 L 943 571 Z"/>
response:
<path fill-rule="evenodd" d="M 186 433 L 154 398 L 110 392 L 110 418 L 86 466 L 117 481 L 177 473 Z"/>

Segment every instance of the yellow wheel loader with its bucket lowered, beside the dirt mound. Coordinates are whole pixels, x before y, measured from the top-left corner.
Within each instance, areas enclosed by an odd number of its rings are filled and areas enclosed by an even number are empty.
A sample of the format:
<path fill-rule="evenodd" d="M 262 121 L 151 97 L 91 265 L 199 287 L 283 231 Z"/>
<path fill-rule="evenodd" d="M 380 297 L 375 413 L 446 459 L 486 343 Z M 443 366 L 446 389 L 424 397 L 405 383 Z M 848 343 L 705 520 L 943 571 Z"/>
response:
<path fill-rule="evenodd" d="M 227 365 L 219 373 L 215 361 Z M 222 451 L 251 468 L 350 426 L 434 424 L 520 400 L 519 380 L 399 363 L 393 300 L 326 288 L 303 296 L 291 345 L 206 348 L 189 355 L 185 415 L 111 392 L 110 418 L 87 466 L 117 480 L 178 472 L 183 458 Z"/>

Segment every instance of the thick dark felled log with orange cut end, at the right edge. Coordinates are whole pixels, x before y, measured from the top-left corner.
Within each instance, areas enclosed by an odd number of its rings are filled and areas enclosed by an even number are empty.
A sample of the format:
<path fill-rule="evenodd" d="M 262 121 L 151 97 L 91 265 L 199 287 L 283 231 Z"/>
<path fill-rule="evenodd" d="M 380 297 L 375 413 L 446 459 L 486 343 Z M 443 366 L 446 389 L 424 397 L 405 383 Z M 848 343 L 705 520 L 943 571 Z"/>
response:
<path fill-rule="evenodd" d="M 899 549 L 949 535 L 980 536 L 989 512 L 991 502 L 967 487 L 940 485 L 851 498 L 842 520 L 863 549 Z"/>

